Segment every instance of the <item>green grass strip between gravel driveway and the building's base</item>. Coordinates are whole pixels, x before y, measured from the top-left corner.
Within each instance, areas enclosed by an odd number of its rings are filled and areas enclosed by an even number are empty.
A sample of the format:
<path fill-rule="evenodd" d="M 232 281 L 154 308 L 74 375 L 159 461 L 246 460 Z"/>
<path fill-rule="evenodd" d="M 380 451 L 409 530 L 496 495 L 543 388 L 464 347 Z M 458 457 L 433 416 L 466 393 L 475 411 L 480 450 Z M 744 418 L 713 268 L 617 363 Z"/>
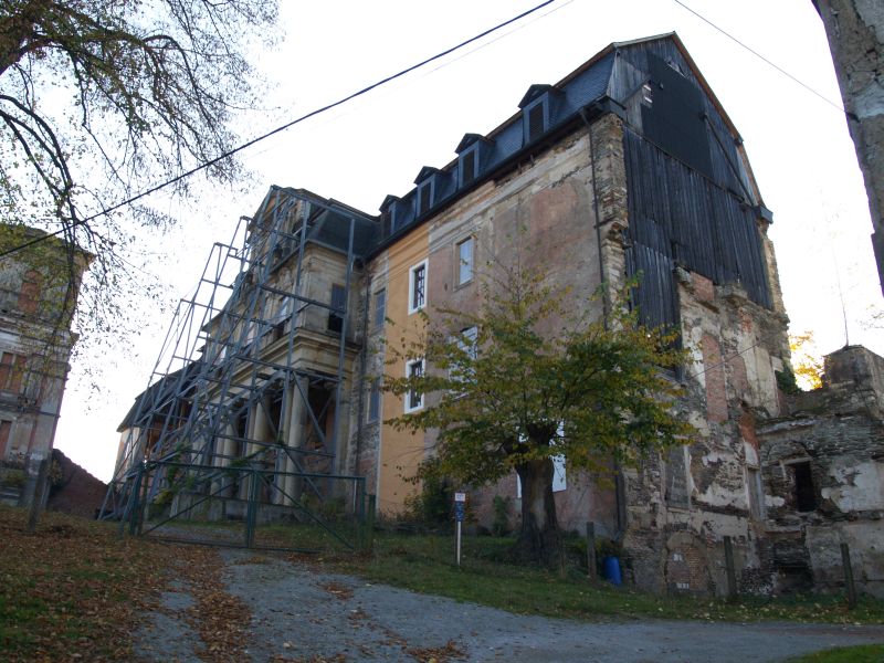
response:
<path fill-rule="evenodd" d="M 450 597 L 511 612 L 572 619 L 655 617 L 755 622 L 786 620 L 831 623 L 882 623 L 884 602 L 862 599 L 848 610 L 841 596 L 720 599 L 661 597 L 603 580 L 586 569 L 555 571 L 508 564 L 505 538 L 466 537 L 456 567 L 452 536 L 378 534 L 371 556 L 340 557 L 343 570 L 375 582 Z"/>

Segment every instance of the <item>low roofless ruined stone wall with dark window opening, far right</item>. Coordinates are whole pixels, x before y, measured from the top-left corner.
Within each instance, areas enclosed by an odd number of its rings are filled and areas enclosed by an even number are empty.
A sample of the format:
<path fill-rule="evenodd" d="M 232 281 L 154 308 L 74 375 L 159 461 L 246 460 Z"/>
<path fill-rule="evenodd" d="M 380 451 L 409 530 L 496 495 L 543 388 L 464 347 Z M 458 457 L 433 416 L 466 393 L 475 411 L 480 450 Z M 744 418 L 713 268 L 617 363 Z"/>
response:
<path fill-rule="evenodd" d="M 769 549 L 779 589 L 843 587 L 840 544 L 865 591 L 884 596 L 884 359 L 862 347 L 825 358 L 823 388 L 758 429 Z"/>

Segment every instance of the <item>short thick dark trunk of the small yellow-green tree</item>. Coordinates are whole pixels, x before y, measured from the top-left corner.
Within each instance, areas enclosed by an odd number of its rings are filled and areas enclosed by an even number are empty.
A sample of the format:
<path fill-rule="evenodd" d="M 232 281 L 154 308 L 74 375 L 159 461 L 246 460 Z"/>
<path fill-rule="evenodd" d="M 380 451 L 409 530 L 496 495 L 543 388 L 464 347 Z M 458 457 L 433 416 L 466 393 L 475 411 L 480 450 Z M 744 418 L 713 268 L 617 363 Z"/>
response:
<path fill-rule="evenodd" d="M 552 460 L 526 461 L 516 466 L 522 481 L 522 533 L 516 555 L 546 567 L 561 564 L 561 536 L 552 499 Z"/>

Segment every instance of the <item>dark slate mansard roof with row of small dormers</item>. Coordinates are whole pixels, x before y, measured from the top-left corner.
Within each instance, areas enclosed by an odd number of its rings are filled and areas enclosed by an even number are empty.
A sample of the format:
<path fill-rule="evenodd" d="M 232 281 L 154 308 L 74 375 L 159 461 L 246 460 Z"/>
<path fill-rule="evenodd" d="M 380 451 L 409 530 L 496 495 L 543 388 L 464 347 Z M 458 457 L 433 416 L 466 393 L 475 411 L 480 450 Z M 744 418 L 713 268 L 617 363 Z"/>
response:
<path fill-rule="evenodd" d="M 555 85 L 530 85 L 518 103 L 520 109 L 503 124 L 485 136 L 464 134 L 454 150 L 457 158 L 441 168 L 424 166 L 414 180 L 414 188 L 402 196 L 388 194 L 380 206 L 380 222 L 378 217 L 325 200 L 302 189 L 273 187 L 272 191 L 296 191 L 314 197 L 326 207 L 336 206 L 335 210 L 324 209 L 323 213 L 328 218 L 316 225 L 311 239 L 346 251 L 348 224 L 352 218 L 356 221 L 355 252 L 357 255 L 370 255 L 488 178 L 496 177 L 530 154 L 545 148 L 581 123 L 583 116 L 591 118 L 608 112 L 623 116 L 623 104 L 641 88 L 643 82 L 651 80 L 649 59 L 653 57 L 683 71 L 692 84 L 704 93 L 706 113 L 714 116 L 711 122 L 720 129 L 723 136 L 733 138 L 733 143 L 723 149 L 733 152 L 728 155 L 728 161 L 730 165 L 736 164 L 740 172 L 733 172 L 734 167 L 728 166 L 732 172 L 713 173 L 716 181 L 744 191 L 748 199 L 758 198 L 750 200 L 751 204 L 762 204 L 757 192 L 749 191 L 753 188 L 753 178 L 748 166 L 734 151 L 734 146 L 740 141 L 739 134 L 674 32 L 611 43 Z M 539 99 L 547 101 L 545 130 L 528 139 L 526 113 Z M 478 158 L 473 162 L 473 177 L 467 179 L 460 171 L 461 161 L 473 149 L 477 150 Z M 428 180 L 433 180 L 432 201 L 421 213 L 418 210 L 418 190 Z"/>

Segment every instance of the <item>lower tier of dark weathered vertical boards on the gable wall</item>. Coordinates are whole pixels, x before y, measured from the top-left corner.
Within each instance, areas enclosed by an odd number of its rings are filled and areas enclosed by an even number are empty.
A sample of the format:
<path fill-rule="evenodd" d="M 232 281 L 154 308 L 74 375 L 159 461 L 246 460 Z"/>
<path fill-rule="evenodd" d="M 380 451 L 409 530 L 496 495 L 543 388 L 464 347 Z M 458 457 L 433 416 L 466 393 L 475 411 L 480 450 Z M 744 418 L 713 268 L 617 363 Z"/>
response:
<path fill-rule="evenodd" d="M 641 272 L 638 304 L 649 324 L 677 323 L 676 264 L 716 285 L 740 283 L 770 308 L 755 212 L 741 198 L 624 129 L 628 273 Z"/>

